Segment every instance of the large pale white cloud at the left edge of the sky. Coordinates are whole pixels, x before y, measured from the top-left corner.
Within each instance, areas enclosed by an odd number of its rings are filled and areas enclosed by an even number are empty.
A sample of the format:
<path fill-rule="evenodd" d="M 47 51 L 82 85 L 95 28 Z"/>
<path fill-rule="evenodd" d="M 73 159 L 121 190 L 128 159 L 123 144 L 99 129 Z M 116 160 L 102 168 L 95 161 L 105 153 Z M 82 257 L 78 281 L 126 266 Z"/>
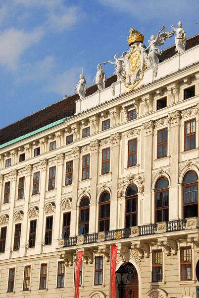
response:
<path fill-rule="evenodd" d="M 0 33 L 0 64 L 15 70 L 22 53 L 43 35 L 41 28 L 32 33 L 10 28 Z"/>

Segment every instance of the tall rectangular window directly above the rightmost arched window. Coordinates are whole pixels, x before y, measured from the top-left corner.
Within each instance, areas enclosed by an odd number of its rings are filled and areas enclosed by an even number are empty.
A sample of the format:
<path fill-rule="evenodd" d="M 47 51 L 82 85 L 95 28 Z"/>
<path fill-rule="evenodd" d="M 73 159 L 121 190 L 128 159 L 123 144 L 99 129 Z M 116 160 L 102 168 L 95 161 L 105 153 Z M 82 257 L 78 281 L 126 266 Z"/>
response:
<path fill-rule="evenodd" d="M 196 148 L 196 119 L 185 122 L 185 151 Z"/>

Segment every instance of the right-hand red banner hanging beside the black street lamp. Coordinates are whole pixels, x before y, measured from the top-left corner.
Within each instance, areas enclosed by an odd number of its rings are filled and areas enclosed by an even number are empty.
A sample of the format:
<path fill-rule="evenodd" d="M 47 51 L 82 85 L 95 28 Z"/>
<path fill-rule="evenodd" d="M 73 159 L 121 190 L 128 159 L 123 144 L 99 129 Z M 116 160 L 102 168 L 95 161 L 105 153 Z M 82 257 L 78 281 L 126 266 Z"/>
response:
<path fill-rule="evenodd" d="M 115 291 L 116 258 L 117 258 L 117 246 L 111 246 L 111 251 L 110 251 L 110 298 L 116 298 L 116 291 Z"/>

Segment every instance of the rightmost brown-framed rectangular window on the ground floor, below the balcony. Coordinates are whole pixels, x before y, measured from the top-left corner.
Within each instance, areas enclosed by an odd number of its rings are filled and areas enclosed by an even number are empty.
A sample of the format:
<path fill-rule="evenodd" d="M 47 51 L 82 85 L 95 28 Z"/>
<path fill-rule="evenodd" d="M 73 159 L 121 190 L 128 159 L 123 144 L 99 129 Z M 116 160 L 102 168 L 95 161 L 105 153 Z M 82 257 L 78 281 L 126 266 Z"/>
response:
<path fill-rule="evenodd" d="M 192 248 L 181 247 L 180 249 L 180 272 L 181 280 L 187 281 L 192 279 Z"/>

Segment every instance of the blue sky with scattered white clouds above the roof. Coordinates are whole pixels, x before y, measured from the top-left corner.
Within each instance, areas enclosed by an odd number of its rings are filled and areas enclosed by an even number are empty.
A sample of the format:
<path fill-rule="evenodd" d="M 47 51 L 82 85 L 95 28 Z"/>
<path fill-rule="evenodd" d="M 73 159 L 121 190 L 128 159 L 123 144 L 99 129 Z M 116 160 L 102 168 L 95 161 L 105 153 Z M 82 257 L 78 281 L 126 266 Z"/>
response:
<path fill-rule="evenodd" d="M 131 27 L 148 46 L 180 20 L 189 38 L 199 34 L 198 12 L 199 0 L 0 0 L 0 128 L 76 93 L 82 69 L 87 86 L 99 63 L 112 75 L 102 62 L 129 50 Z"/>

